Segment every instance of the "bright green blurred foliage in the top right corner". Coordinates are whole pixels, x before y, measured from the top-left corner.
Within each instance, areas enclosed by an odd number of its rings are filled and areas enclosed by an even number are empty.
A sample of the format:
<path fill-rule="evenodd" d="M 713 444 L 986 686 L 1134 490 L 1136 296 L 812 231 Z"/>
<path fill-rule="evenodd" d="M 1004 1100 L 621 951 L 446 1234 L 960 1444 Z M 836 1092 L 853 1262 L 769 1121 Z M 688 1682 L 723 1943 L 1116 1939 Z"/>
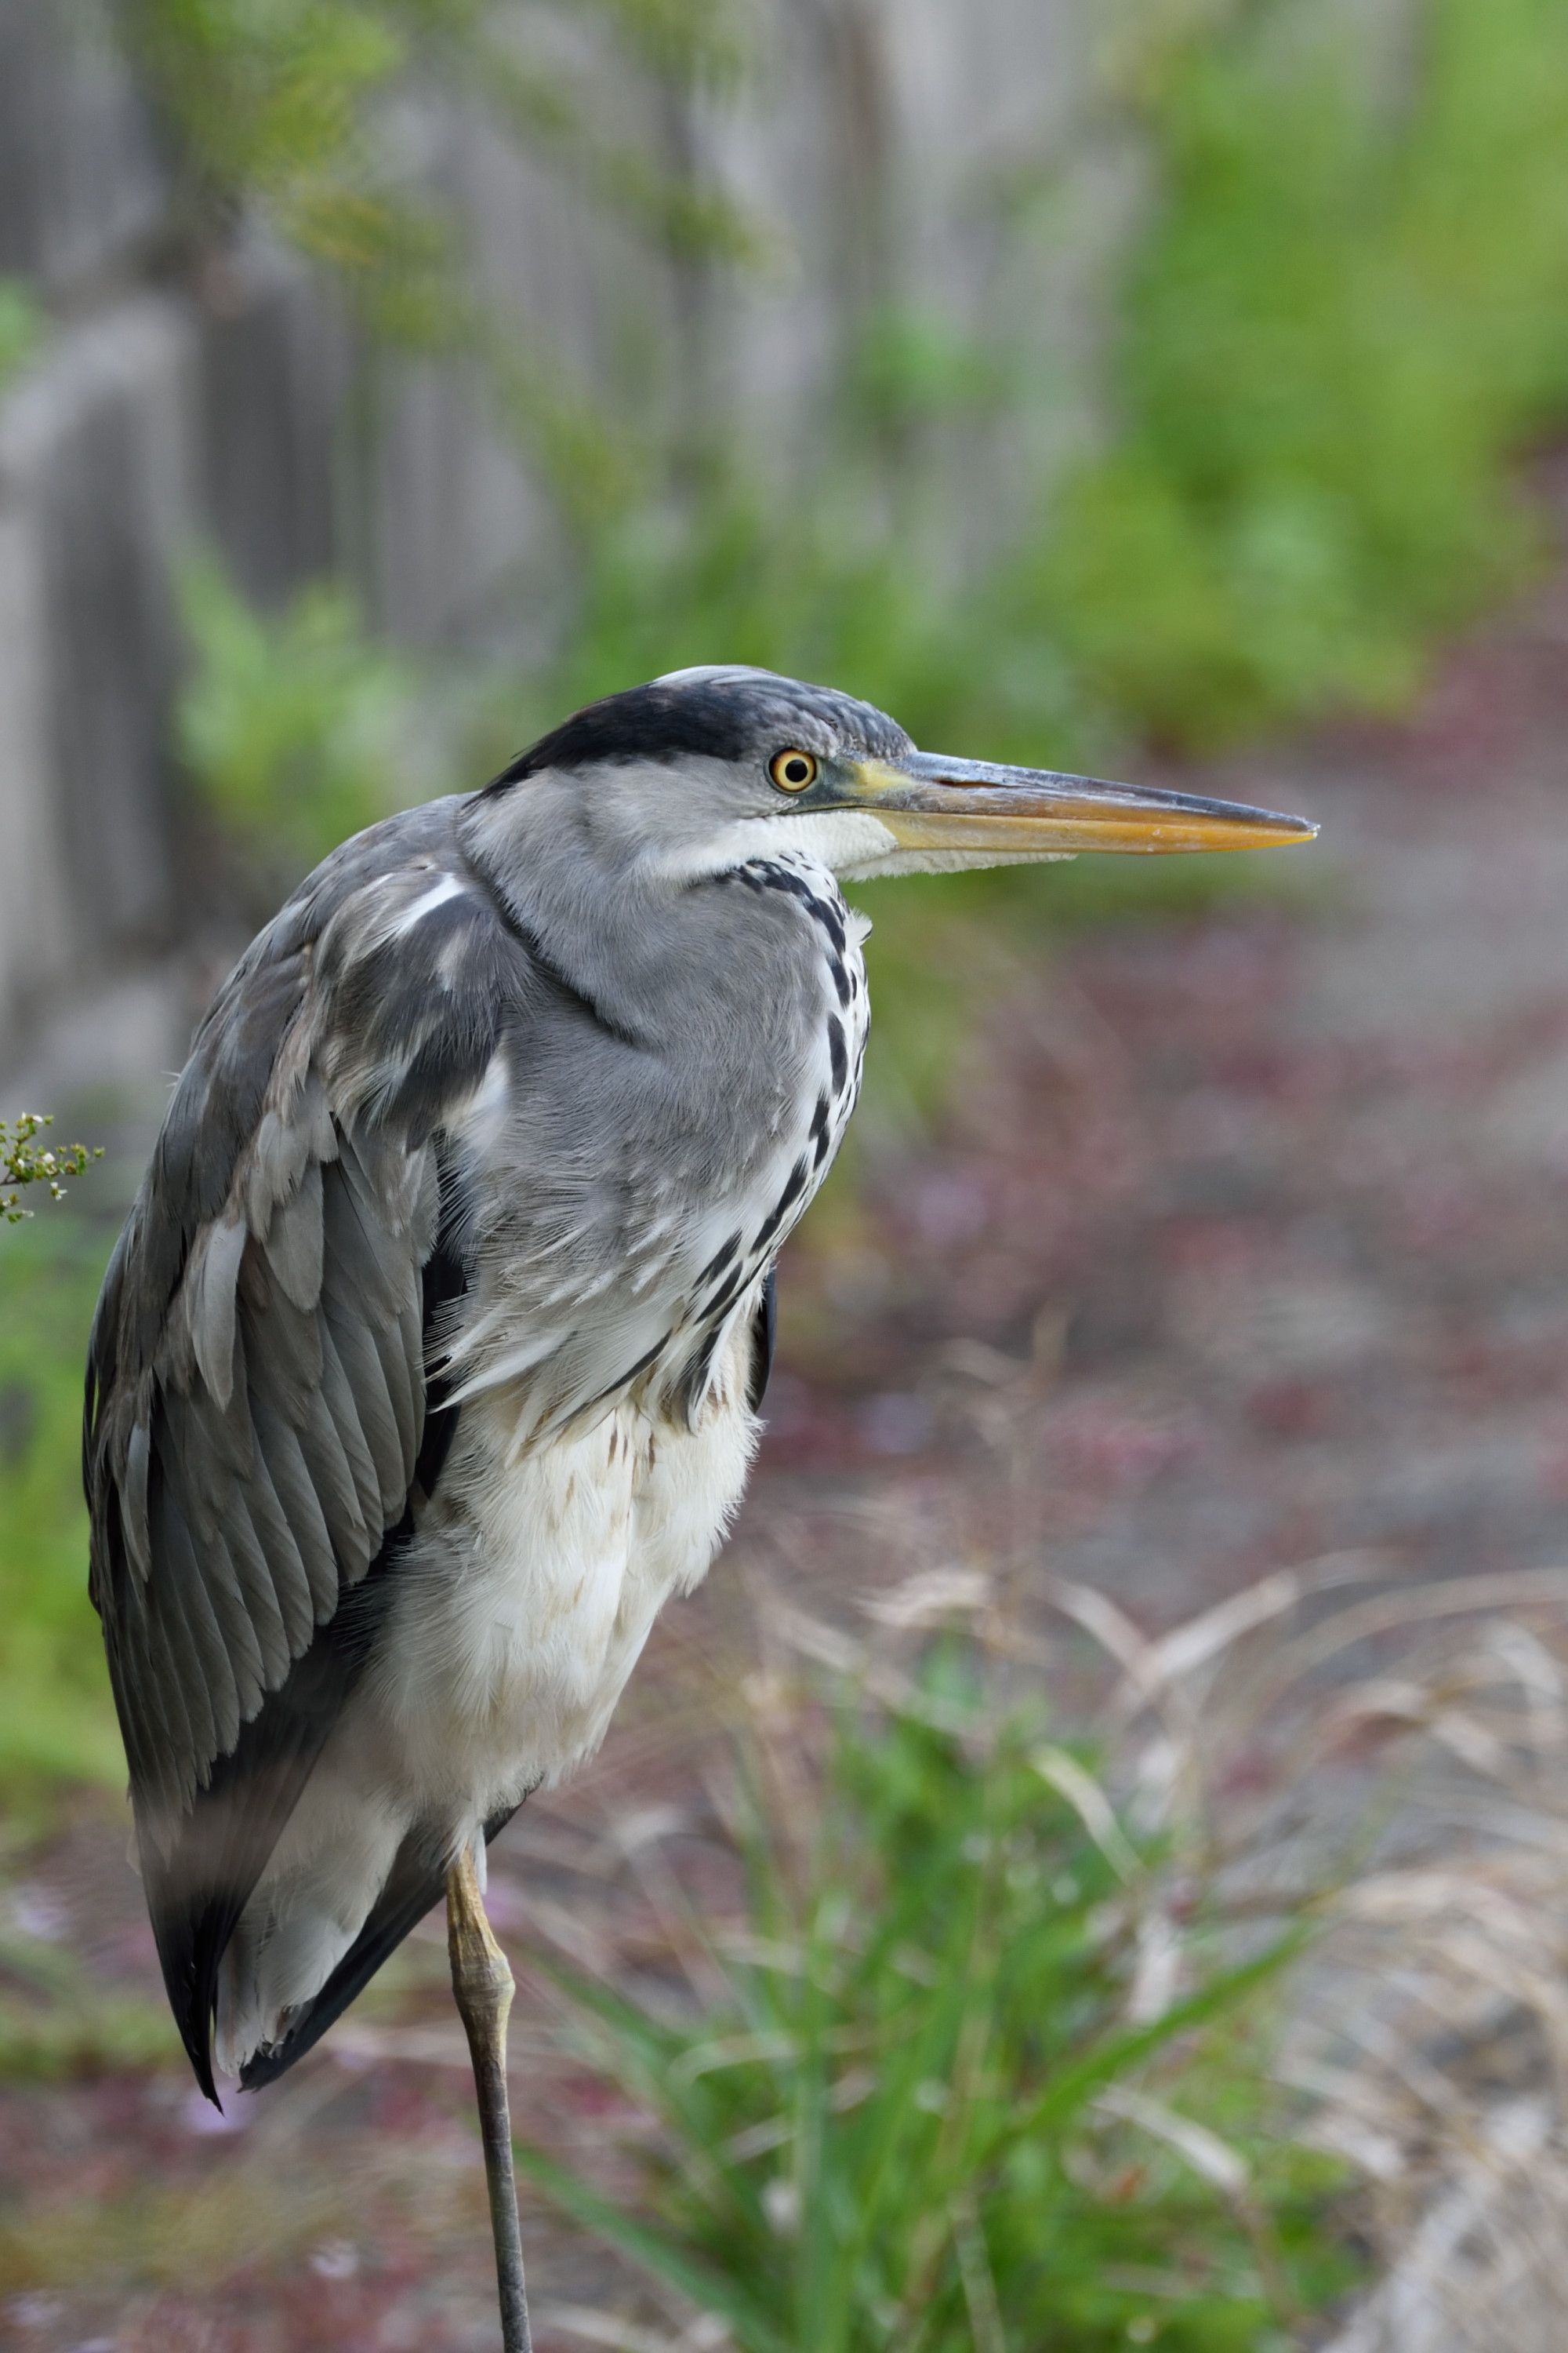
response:
<path fill-rule="evenodd" d="M 1535 548 L 1509 468 L 1568 412 L 1568 14 L 1253 0 L 1128 104 L 1161 193 L 1110 447 L 1018 614 L 1180 746 L 1396 706 Z"/>

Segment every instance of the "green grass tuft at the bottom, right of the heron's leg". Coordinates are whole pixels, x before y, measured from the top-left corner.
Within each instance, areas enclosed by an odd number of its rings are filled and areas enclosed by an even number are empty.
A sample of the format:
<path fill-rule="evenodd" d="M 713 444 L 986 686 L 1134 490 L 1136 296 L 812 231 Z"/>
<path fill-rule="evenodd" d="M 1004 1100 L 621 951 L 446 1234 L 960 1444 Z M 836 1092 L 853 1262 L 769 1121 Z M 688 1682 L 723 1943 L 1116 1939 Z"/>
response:
<path fill-rule="evenodd" d="M 1161 1859 L 1086 1762 L 957 1649 L 830 1706 L 820 1774 L 799 1720 L 748 1758 L 741 1922 L 682 1911 L 646 2000 L 552 1965 L 618 2099 L 590 2174 L 524 2169 L 745 2353 L 1300 2344 L 1354 2264 L 1265 2080 L 1293 1946 L 1128 2017 Z"/>

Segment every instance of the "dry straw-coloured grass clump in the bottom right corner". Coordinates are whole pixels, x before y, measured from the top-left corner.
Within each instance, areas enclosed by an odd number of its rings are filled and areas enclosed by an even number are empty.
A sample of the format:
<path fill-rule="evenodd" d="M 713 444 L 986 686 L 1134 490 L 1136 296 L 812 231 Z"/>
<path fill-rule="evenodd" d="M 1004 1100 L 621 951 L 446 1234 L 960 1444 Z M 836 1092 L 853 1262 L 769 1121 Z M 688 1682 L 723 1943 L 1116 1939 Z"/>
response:
<path fill-rule="evenodd" d="M 1512 2353 L 1559 2353 L 1568 1569 L 1356 1593 L 1375 1572 L 1274 1574 L 1161 1640 L 1053 1602 L 1114 1664 L 1107 1779 L 1192 1885 L 1321 1920 L 1279 2073 L 1361 2177 L 1380 2261 L 1331 2353 L 1495 2353 L 1502 2315 Z M 1168 2000 L 1180 1918 L 1150 1944 Z"/>

